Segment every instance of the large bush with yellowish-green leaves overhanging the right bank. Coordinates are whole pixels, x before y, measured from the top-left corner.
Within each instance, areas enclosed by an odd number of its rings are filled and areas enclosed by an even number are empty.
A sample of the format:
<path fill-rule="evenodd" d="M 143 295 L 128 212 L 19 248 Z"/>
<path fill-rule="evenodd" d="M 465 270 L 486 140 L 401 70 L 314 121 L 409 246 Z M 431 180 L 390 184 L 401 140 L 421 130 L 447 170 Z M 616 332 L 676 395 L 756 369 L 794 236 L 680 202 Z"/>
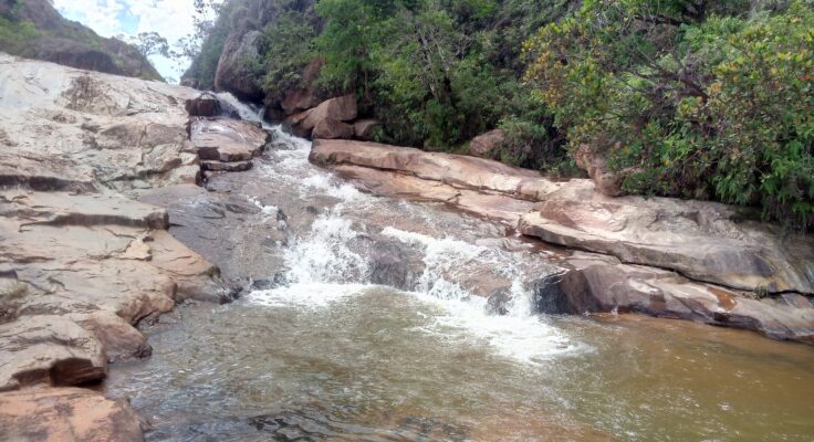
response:
<path fill-rule="evenodd" d="M 814 10 L 791 2 L 585 1 L 526 42 L 572 149 L 635 193 L 754 204 L 814 224 Z"/>

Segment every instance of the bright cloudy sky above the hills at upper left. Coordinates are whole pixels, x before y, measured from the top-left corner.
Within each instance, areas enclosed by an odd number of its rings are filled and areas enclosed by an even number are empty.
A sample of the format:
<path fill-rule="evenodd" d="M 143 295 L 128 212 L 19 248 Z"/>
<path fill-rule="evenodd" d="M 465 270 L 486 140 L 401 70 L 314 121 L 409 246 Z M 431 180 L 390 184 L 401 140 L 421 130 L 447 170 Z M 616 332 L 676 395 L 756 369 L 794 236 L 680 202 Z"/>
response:
<path fill-rule="evenodd" d="M 103 36 L 155 31 L 173 44 L 192 32 L 192 0 L 54 0 L 54 6 Z M 186 67 L 160 56 L 150 61 L 167 80 L 178 80 Z"/>

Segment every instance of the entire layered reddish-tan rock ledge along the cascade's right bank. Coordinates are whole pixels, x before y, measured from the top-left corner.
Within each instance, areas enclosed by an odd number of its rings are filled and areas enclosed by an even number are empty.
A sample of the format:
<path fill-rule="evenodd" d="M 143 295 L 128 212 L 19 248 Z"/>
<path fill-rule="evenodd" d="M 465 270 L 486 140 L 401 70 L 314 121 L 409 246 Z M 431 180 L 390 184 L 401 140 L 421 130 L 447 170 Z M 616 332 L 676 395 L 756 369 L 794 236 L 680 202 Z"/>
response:
<path fill-rule="evenodd" d="M 376 194 L 442 201 L 571 249 L 539 281 L 538 308 L 640 313 L 814 344 L 814 239 L 747 210 L 613 198 L 497 161 L 349 140 L 315 140 L 312 162 Z"/>

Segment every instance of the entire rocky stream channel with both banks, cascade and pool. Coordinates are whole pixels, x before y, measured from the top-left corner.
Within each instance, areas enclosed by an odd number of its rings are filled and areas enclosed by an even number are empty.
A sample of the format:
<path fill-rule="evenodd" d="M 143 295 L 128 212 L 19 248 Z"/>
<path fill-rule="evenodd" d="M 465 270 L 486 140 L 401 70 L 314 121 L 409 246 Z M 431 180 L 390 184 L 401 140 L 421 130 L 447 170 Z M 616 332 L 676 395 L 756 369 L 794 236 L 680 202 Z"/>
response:
<path fill-rule="evenodd" d="M 814 434 L 808 236 L 0 65 L 0 439 Z"/>

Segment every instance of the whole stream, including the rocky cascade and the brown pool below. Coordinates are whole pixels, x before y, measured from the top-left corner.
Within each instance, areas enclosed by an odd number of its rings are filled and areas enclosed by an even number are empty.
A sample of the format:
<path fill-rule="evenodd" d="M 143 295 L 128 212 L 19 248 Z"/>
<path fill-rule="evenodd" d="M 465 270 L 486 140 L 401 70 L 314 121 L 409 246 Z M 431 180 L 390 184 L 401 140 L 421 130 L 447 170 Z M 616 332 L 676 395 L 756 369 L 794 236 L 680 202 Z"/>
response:
<path fill-rule="evenodd" d="M 535 314 L 562 251 L 363 193 L 267 128 L 275 147 L 251 171 L 170 207 L 173 233 L 252 290 L 180 306 L 147 330 L 150 358 L 111 367 L 105 393 L 131 399 L 148 440 L 814 440 L 811 347 Z"/>

